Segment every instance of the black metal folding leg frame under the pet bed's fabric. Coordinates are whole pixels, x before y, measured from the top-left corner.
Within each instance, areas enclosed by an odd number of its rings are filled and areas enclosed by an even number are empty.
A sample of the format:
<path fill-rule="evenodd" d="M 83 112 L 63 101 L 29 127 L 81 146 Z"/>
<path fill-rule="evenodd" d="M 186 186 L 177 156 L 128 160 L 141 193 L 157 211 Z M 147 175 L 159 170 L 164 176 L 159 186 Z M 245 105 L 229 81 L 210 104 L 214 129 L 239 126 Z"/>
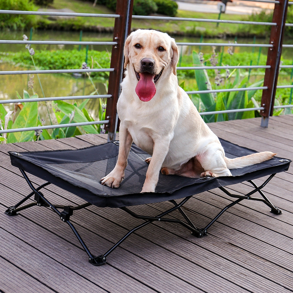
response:
<path fill-rule="evenodd" d="M 19 168 L 20 169 L 20 168 Z M 82 247 L 84 248 L 84 250 L 86 251 L 86 253 L 88 254 L 88 261 L 93 264 L 93 265 L 102 265 L 103 263 L 106 263 L 106 257 L 115 249 L 117 248 L 117 246 L 119 246 L 128 236 L 130 236 L 133 232 L 137 231 L 138 229 L 151 224 L 152 222 L 155 221 L 160 221 L 160 222 L 171 222 L 171 223 L 177 223 L 180 224 L 182 226 L 184 226 L 185 228 L 189 229 L 190 231 L 192 231 L 192 234 L 198 238 L 201 238 L 203 236 L 207 235 L 207 229 L 212 226 L 212 224 L 230 207 L 236 205 L 237 203 L 241 202 L 242 200 L 257 200 L 257 201 L 262 201 L 264 202 L 266 205 L 268 205 L 271 208 L 271 212 L 274 214 L 282 214 L 282 211 L 275 207 L 270 200 L 268 200 L 268 198 L 264 195 L 264 193 L 262 192 L 262 188 L 275 176 L 275 174 L 271 174 L 262 185 L 257 186 L 252 180 L 248 180 L 247 182 L 251 183 L 251 185 L 254 187 L 254 189 L 247 193 L 246 195 L 235 195 L 235 194 L 231 194 L 228 190 L 226 190 L 224 187 L 219 187 L 220 190 L 222 190 L 226 195 L 229 195 L 230 197 L 234 197 L 237 198 L 235 201 L 231 202 L 229 205 L 227 205 L 226 207 L 224 207 L 204 228 L 198 229 L 193 223 L 192 221 L 188 218 L 188 216 L 185 214 L 185 212 L 183 211 L 183 209 L 181 208 L 193 195 L 190 195 L 188 197 L 185 197 L 184 199 L 181 199 L 180 202 L 176 202 L 176 200 L 170 200 L 171 203 L 173 203 L 174 207 L 167 209 L 165 212 L 158 214 L 157 216 L 154 217 L 150 217 L 150 216 L 144 216 L 144 215 L 138 215 L 136 213 L 134 213 L 131 209 L 129 209 L 128 207 L 121 207 L 120 209 L 124 210 L 125 212 L 127 212 L 128 214 L 130 214 L 132 217 L 137 218 L 137 219 L 142 219 L 145 222 L 134 227 L 133 229 L 131 229 L 130 231 L 128 231 L 119 241 L 117 241 L 107 252 L 105 252 L 102 255 L 99 256 L 93 256 L 91 254 L 91 252 L 89 251 L 89 249 L 87 248 L 86 244 L 84 243 L 83 239 L 81 238 L 81 236 L 79 235 L 79 233 L 77 232 L 77 230 L 75 229 L 74 225 L 70 222 L 70 217 L 73 214 L 73 211 L 75 210 L 79 210 L 79 209 L 83 209 L 85 207 L 88 207 L 90 205 L 92 205 L 91 203 L 85 203 L 83 205 L 79 205 L 76 207 L 73 206 L 64 206 L 64 205 L 53 205 L 51 204 L 43 195 L 43 193 L 40 191 L 42 188 L 44 188 L 45 186 L 51 184 L 49 182 L 46 182 L 40 186 L 38 186 L 37 188 L 35 188 L 32 184 L 32 182 L 30 181 L 30 179 L 28 178 L 28 176 L 26 175 L 25 171 L 23 171 L 22 169 L 20 169 L 23 177 L 25 178 L 26 182 L 28 183 L 29 187 L 31 188 L 32 192 L 27 195 L 25 198 L 23 198 L 20 202 L 18 202 L 16 205 L 12 206 L 12 207 L 8 207 L 8 209 L 5 211 L 6 214 L 8 214 L 9 216 L 14 216 L 16 215 L 18 212 L 27 209 L 29 207 L 32 206 L 39 206 L 39 207 L 49 207 L 50 209 L 52 209 L 53 212 L 55 212 L 60 219 L 67 223 L 70 228 L 72 229 L 72 231 L 74 232 L 75 236 L 77 237 L 77 239 L 79 240 L 79 242 L 81 243 Z M 258 192 L 261 197 L 251 197 L 251 195 L 253 195 L 254 193 Z M 35 202 L 30 203 L 28 205 L 22 206 L 20 207 L 26 200 L 28 200 L 30 197 L 32 197 L 33 195 L 35 195 L 34 200 Z M 59 209 L 63 209 L 62 212 L 59 211 Z M 170 214 L 171 212 L 174 212 L 175 210 L 178 210 L 180 212 L 180 214 L 183 216 L 183 218 L 185 219 L 186 222 L 180 220 L 180 219 L 176 219 L 176 218 L 166 218 L 165 216 Z"/>

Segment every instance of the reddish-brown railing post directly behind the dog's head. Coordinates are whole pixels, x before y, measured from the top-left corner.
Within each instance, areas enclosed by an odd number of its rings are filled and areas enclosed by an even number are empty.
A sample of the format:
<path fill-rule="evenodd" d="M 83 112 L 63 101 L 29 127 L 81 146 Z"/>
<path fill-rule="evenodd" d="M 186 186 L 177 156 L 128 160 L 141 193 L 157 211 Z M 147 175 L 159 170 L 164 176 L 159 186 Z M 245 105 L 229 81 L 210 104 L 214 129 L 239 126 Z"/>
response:
<path fill-rule="evenodd" d="M 127 35 L 130 33 L 131 18 L 132 18 L 133 0 L 117 0 L 116 14 L 119 18 L 115 18 L 113 41 L 117 45 L 113 45 L 111 53 L 111 68 L 114 71 L 110 72 L 108 94 L 112 95 L 107 99 L 106 119 L 109 123 L 105 125 L 105 130 L 108 131 L 108 141 L 115 140 L 117 129 L 117 111 L 116 104 L 120 95 L 120 84 L 123 75 L 124 54 L 123 47 Z"/>

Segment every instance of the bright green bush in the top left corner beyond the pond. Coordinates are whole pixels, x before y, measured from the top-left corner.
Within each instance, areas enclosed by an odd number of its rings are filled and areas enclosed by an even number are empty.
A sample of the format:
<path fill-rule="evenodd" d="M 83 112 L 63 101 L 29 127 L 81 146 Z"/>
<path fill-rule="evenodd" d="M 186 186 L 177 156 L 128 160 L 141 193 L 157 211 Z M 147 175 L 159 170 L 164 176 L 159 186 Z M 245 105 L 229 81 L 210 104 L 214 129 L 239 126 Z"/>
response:
<path fill-rule="evenodd" d="M 36 11 L 36 6 L 29 0 L 1 0 L 1 9 Z M 35 15 L 0 14 L 0 28 L 23 29 L 31 27 L 36 22 Z"/>

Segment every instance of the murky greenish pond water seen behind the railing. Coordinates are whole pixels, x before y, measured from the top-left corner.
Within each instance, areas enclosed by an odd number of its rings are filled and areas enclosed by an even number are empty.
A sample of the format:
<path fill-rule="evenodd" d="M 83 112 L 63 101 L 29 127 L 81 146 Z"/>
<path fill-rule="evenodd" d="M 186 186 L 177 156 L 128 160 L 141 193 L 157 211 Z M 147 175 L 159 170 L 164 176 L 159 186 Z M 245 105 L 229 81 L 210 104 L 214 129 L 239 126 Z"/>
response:
<path fill-rule="evenodd" d="M 29 31 L 25 32 L 0 32 L 0 39 L 2 40 L 22 40 L 22 35 L 26 34 L 30 36 Z M 54 32 L 54 31 L 34 31 L 32 35 L 32 40 L 65 40 L 65 41 L 79 41 L 80 33 L 79 32 Z M 112 41 L 112 35 L 102 34 L 102 33 L 83 33 L 82 41 Z M 176 37 L 177 42 L 200 42 L 200 38 L 188 38 L 188 37 Z M 235 39 L 203 39 L 202 42 L 217 42 L 217 43 L 228 43 L 234 42 Z M 238 43 L 253 43 L 253 39 L 237 39 Z M 260 39 L 256 40 L 256 43 L 268 44 L 268 40 Z M 34 45 L 34 50 L 60 50 L 67 49 L 73 50 L 79 49 L 78 45 Z M 84 49 L 85 46 L 82 46 Z M 111 46 L 89 46 L 90 50 L 108 50 L 111 51 Z M 288 50 L 287 50 L 288 49 Z M 9 44 L 0 44 L 0 54 L 5 52 L 17 52 L 19 50 L 25 50 L 23 45 L 9 45 Z M 190 54 L 192 50 L 195 50 L 195 47 L 183 46 L 179 48 L 180 52 L 184 54 Z M 198 50 L 198 48 L 197 48 Z M 218 52 L 221 50 L 221 47 L 217 47 Z M 259 48 L 251 47 L 235 47 L 234 52 L 258 52 Z M 262 49 L 262 53 L 266 52 L 266 48 Z M 209 46 L 201 47 L 202 52 L 211 52 Z M 292 58 L 292 49 L 286 48 L 283 50 L 283 56 L 287 58 Z M 0 55 L 1 60 L 1 55 Z M 21 70 L 17 66 L 11 66 L 9 64 L 0 62 L 0 70 Z M 77 95 L 89 95 L 94 91 L 94 88 L 91 82 L 86 78 L 75 78 L 74 76 L 66 74 L 39 74 L 39 78 L 44 89 L 46 97 L 56 97 L 56 96 L 77 96 Z M 17 99 L 18 92 L 20 96 L 23 96 L 23 90 L 27 90 L 28 76 L 26 74 L 20 75 L 0 75 L 0 99 Z M 107 90 L 103 81 L 94 81 L 96 88 L 98 89 L 98 94 L 106 94 Z M 37 76 L 34 77 L 34 90 L 38 93 L 39 97 L 42 97 L 42 91 L 37 79 Z M 32 91 L 30 90 L 32 94 Z M 69 100 L 68 102 L 71 102 Z M 78 101 L 81 103 L 81 100 Z M 5 107 L 12 109 L 12 104 L 5 104 Z M 42 108 L 42 107 L 41 107 Z M 87 110 L 91 115 L 96 119 L 98 117 L 98 108 L 99 101 L 91 99 L 86 106 Z M 44 110 L 44 115 L 46 111 Z"/>

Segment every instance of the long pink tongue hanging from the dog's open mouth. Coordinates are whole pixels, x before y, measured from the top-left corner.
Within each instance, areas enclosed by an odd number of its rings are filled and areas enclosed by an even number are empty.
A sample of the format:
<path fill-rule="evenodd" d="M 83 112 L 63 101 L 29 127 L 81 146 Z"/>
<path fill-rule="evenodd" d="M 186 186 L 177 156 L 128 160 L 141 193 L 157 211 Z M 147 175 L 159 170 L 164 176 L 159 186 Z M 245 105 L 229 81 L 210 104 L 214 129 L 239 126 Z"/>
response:
<path fill-rule="evenodd" d="M 154 75 L 143 72 L 140 74 L 140 79 L 135 88 L 135 92 L 140 100 L 148 102 L 156 93 L 156 86 L 154 83 Z"/>

